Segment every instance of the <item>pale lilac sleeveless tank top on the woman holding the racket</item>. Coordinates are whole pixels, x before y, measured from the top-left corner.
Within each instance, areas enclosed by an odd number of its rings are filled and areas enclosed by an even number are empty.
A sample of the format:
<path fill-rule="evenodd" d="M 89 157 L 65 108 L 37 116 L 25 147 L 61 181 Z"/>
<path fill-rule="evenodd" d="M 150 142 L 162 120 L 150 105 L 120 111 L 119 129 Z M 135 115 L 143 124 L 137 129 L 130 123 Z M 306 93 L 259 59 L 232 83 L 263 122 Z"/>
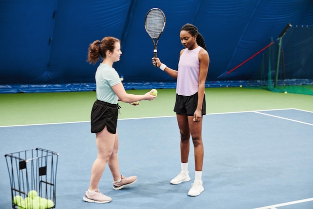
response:
<path fill-rule="evenodd" d="M 176 93 L 182 96 L 191 96 L 198 91 L 200 62 L 198 46 L 193 50 L 185 49 L 179 57 Z"/>

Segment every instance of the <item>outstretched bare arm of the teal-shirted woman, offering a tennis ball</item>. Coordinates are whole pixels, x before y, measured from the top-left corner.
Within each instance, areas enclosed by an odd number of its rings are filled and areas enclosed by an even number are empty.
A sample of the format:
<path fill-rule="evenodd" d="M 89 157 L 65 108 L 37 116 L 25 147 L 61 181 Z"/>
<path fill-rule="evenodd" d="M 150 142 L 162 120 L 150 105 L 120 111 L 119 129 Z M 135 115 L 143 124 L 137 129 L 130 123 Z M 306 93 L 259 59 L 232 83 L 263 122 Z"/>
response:
<path fill-rule="evenodd" d="M 118 83 L 112 86 L 112 89 L 117 95 L 118 100 L 122 102 L 127 102 L 127 103 L 137 102 L 141 100 L 152 100 L 156 97 L 156 96 L 151 95 L 151 93 L 153 92 L 153 89 L 143 95 L 128 94 L 125 91 L 125 88 L 122 83 Z"/>

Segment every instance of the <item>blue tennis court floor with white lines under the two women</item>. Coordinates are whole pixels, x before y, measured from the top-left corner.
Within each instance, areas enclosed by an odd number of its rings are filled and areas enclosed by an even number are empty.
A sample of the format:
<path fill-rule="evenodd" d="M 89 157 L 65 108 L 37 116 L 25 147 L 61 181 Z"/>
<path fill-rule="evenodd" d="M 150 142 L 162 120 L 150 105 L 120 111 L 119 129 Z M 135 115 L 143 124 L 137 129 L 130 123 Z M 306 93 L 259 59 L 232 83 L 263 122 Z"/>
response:
<path fill-rule="evenodd" d="M 99 189 L 106 204 L 82 200 L 96 157 L 89 121 L 0 127 L 1 153 L 40 147 L 58 152 L 56 208 L 313 208 L 313 112 L 299 109 L 208 114 L 203 118 L 203 186 L 171 185 L 180 170 L 175 117 L 118 120 L 119 163 L 135 184 L 113 190 L 108 167 Z M 5 158 L 0 158 L 0 208 L 11 208 Z M 193 149 L 189 174 L 194 178 Z"/>

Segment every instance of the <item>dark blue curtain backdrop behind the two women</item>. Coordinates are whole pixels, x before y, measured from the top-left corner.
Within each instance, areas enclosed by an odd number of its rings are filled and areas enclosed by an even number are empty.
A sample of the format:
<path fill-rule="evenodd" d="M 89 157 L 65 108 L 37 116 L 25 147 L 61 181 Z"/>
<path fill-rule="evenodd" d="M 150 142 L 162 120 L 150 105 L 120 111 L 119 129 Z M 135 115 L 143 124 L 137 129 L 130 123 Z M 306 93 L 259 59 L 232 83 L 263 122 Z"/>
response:
<path fill-rule="evenodd" d="M 259 69 L 261 54 L 225 73 L 278 38 L 287 23 L 292 28 L 313 25 L 311 0 L 0 0 L 0 93 L 94 89 L 97 65 L 86 62 L 87 49 L 105 36 L 121 40 L 123 54 L 113 67 L 126 88 L 174 88 L 174 80 L 151 65 L 153 44 L 144 17 L 154 7 L 166 16 L 158 57 L 177 68 L 179 30 L 191 23 L 210 55 L 207 81 L 250 79 Z M 293 40 L 291 46 L 284 39 L 283 44 L 300 57 L 284 65 L 292 74 L 301 74 L 313 66 L 312 34 L 290 30 L 286 37 L 293 33 L 298 42 Z"/>

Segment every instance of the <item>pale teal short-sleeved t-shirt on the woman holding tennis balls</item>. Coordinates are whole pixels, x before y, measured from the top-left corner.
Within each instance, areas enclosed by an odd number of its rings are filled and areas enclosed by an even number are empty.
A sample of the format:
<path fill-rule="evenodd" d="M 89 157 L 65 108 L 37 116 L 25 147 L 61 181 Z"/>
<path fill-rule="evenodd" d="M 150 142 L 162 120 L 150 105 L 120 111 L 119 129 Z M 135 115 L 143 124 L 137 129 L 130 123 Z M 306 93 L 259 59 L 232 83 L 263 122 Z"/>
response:
<path fill-rule="evenodd" d="M 100 101 L 117 104 L 117 95 L 112 86 L 120 83 L 116 70 L 107 64 L 100 63 L 95 72 L 96 98 Z"/>

